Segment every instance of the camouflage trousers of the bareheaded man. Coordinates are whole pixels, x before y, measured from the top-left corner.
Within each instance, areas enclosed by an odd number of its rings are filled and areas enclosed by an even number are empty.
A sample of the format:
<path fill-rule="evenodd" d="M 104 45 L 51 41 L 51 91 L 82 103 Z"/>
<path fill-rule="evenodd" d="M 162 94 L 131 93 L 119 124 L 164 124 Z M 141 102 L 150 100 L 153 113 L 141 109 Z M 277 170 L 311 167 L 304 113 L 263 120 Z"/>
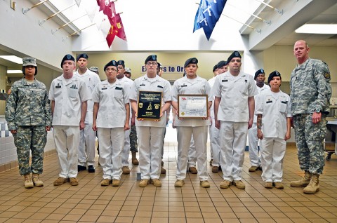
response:
<path fill-rule="evenodd" d="M 312 123 L 312 114 L 299 114 L 293 117 L 298 161 L 301 170 L 321 175 L 324 167 L 324 138 L 326 135 L 326 116 Z"/>

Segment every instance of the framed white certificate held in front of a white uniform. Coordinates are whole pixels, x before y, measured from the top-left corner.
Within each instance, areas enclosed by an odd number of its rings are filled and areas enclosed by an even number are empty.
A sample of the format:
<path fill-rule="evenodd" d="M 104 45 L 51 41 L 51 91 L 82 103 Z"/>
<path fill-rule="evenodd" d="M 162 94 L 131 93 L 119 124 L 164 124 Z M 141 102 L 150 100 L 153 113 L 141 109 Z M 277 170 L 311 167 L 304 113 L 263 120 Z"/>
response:
<path fill-rule="evenodd" d="M 207 119 L 208 95 L 178 95 L 178 118 Z"/>

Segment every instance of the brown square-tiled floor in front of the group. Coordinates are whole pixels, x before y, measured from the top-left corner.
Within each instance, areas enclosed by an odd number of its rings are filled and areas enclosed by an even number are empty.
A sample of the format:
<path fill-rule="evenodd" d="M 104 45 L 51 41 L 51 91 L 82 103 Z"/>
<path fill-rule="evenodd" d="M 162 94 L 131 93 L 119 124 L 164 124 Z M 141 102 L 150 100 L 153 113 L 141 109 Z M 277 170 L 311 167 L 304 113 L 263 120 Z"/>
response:
<path fill-rule="evenodd" d="M 123 175 L 120 187 L 101 187 L 102 168 L 81 172 L 79 186 L 53 186 L 58 159 L 48 156 L 41 180 L 44 187 L 25 189 L 18 169 L 0 173 L 0 222 L 337 222 L 337 156 L 326 161 L 320 191 L 303 194 L 289 182 L 301 175 L 296 148 L 288 147 L 284 159 L 284 184 L 265 189 L 258 171 L 249 173 L 245 155 L 246 189 L 220 189 L 221 174 L 211 173 L 211 187 L 199 186 L 197 175 L 187 175 L 183 188 L 175 188 L 176 142 L 166 142 L 162 187 L 138 187 L 138 166 Z M 130 165 L 131 166 L 131 165 Z"/>

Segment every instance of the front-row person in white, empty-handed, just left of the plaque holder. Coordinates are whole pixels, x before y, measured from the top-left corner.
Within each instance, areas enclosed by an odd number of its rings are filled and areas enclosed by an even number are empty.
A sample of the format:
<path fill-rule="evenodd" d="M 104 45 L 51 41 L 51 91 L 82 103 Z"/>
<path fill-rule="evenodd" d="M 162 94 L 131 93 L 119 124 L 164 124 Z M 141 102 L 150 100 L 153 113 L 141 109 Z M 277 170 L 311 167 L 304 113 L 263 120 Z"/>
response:
<path fill-rule="evenodd" d="M 118 187 L 121 179 L 121 151 L 124 148 L 124 131 L 130 128 L 129 86 L 117 79 L 117 62 L 112 60 L 104 67 L 107 80 L 93 90 L 93 130 L 100 140 L 100 165 L 103 167 L 102 186 L 112 182 Z"/>

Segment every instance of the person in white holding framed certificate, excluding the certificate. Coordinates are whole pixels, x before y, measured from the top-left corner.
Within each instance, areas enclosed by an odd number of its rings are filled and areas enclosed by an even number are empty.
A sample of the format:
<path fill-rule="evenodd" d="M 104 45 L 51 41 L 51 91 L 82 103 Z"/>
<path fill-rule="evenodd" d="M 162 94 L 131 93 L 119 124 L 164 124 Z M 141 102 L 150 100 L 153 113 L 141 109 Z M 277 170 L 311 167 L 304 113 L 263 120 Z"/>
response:
<path fill-rule="evenodd" d="M 186 76 L 174 81 L 172 88 L 172 106 L 178 111 L 178 95 L 207 95 L 207 111 L 210 109 L 213 97 L 211 87 L 206 79 L 197 76 L 198 69 L 197 58 L 186 60 L 184 68 Z M 175 126 L 177 128 L 178 139 L 178 161 L 177 161 L 177 181 L 175 187 L 183 187 L 186 178 L 187 154 L 190 149 L 191 137 L 193 134 L 194 146 L 197 156 L 197 170 L 201 187 L 210 187 L 207 175 L 207 133 L 209 128 L 209 119 L 178 119 L 176 116 Z"/>

